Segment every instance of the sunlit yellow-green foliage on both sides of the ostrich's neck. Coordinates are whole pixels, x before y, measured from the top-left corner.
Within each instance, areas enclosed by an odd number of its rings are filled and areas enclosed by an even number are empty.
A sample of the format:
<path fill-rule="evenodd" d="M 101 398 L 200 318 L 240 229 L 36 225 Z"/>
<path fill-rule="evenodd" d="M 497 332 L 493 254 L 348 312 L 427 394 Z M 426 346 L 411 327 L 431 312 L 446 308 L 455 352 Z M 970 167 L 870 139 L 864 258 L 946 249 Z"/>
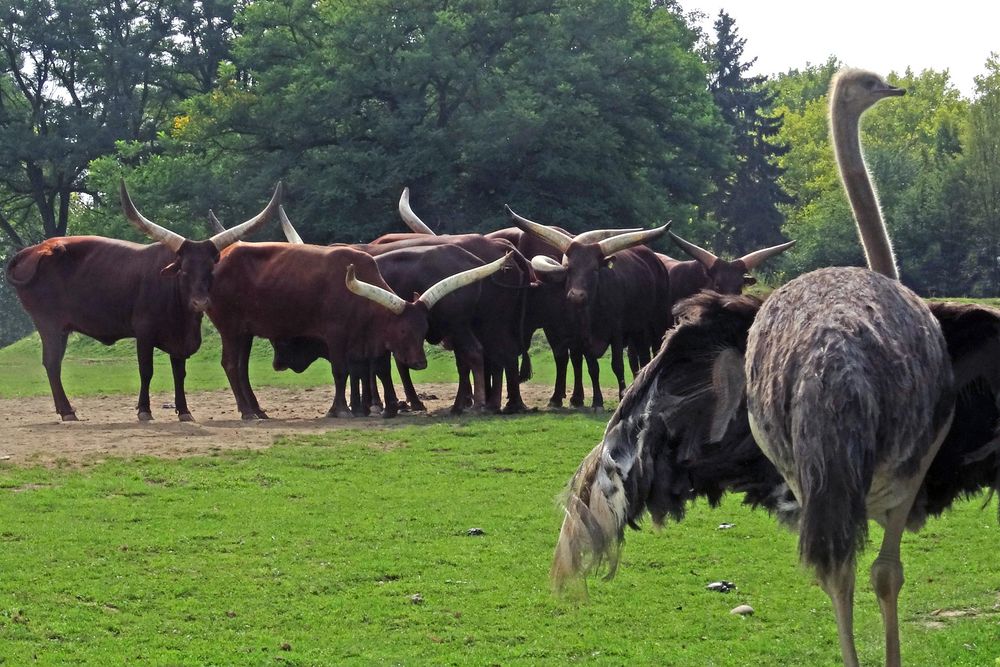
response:
<path fill-rule="evenodd" d="M 785 117 L 781 138 L 791 146 L 780 164 L 795 199 L 784 228 L 799 241 L 786 264 L 793 273 L 864 264 L 829 144 L 825 90 L 836 69 L 831 61 L 773 83 Z M 995 294 L 1000 274 L 989 255 L 996 225 L 983 223 L 969 192 L 970 156 L 990 142 L 962 129 L 976 103 L 959 97 L 947 73 L 907 71 L 892 80 L 906 96 L 872 108 L 861 132 L 902 279 L 924 295 Z M 978 173 L 988 179 L 996 171 L 994 164 Z"/>

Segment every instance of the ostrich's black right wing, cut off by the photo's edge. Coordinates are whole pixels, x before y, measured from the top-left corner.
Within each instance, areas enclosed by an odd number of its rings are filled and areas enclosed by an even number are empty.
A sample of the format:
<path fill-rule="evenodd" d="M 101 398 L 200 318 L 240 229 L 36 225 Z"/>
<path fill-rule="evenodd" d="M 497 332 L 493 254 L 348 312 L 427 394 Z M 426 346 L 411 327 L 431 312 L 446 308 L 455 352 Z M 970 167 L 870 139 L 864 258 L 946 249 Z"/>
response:
<path fill-rule="evenodd" d="M 955 370 L 955 417 L 910 513 L 916 528 L 958 498 L 1000 490 L 1000 311 L 929 303 Z"/>

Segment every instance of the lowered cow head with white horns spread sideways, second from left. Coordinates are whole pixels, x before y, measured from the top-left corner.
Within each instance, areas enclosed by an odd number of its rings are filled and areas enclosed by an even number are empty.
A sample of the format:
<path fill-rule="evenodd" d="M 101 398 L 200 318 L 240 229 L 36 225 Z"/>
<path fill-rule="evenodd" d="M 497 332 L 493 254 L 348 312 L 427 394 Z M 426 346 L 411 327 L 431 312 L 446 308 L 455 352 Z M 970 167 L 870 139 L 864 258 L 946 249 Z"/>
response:
<path fill-rule="evenodd" d="M 496 273 L 508 257 L 509 253 L 489 264 L 439 280 L 423 294 L 415 294 L 413 301 L 406 301 L 390 290 L 358 280 L 353 264 L 347 267 L 345 282 L 351 292 L 374 301 L 392 313 L 393 317 L 382 327 L 386 349 L 404 366 L 421 370 L 427 367 L 424 338 L 430 326 L 430 311 L 434 304 L 451 292 Z"/>

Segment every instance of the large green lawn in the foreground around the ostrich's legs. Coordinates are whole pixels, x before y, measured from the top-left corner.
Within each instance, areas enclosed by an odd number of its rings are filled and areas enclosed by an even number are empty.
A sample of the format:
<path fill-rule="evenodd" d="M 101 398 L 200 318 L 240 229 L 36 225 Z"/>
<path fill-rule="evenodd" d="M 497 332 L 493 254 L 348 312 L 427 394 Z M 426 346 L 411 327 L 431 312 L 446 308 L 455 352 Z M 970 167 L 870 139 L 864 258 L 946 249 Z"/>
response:
<path fill-rule="evenodd" d="M 339 431 L 178 461 L 0 468 L 0 656 L 836 664 L 830 604 L 796 564 L 794 536 L 735 498 L 697 505 L 660 532 L 630 531 L 618 577 L 592 581 L 589 601 L 550 594 L 553 498 L 603 427 L 543 414 Z M 906 537 L 907 664 L 1000 657 L 993 505 L 962 504 Z M 735 527 L 718 530 L 723 521 Z M 862 662 L 879 664 L 871 557 L 859 569 L 856 625 Z M 719 579 L 738 590 L 705 590 Z M 729 614 L 744 602 L 754 616 Z M 979 613 L 933 615 L 968 608 Z"/>

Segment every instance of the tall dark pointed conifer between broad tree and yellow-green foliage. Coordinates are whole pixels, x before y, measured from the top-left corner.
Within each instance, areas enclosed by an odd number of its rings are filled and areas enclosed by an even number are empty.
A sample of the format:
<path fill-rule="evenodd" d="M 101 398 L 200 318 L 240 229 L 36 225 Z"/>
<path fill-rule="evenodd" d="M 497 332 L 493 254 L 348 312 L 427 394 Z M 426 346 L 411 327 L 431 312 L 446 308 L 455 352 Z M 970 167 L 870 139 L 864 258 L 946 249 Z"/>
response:
<path fill-rule="evenodd" d="M 778 206 L 792 200 L 780 185 L 778 158 L 788 148 L 777 141 L 782 116 L 766 77 L 748 76 L 756 58 L 744 59 L 746 40 L 735 21 L 719 12 L 709 47 L 709 90 L 732 136 L 734 169 L 717 180 L 712 209 L 719 221 L 717 245 L 739 254 L 781 242 Z"/>

